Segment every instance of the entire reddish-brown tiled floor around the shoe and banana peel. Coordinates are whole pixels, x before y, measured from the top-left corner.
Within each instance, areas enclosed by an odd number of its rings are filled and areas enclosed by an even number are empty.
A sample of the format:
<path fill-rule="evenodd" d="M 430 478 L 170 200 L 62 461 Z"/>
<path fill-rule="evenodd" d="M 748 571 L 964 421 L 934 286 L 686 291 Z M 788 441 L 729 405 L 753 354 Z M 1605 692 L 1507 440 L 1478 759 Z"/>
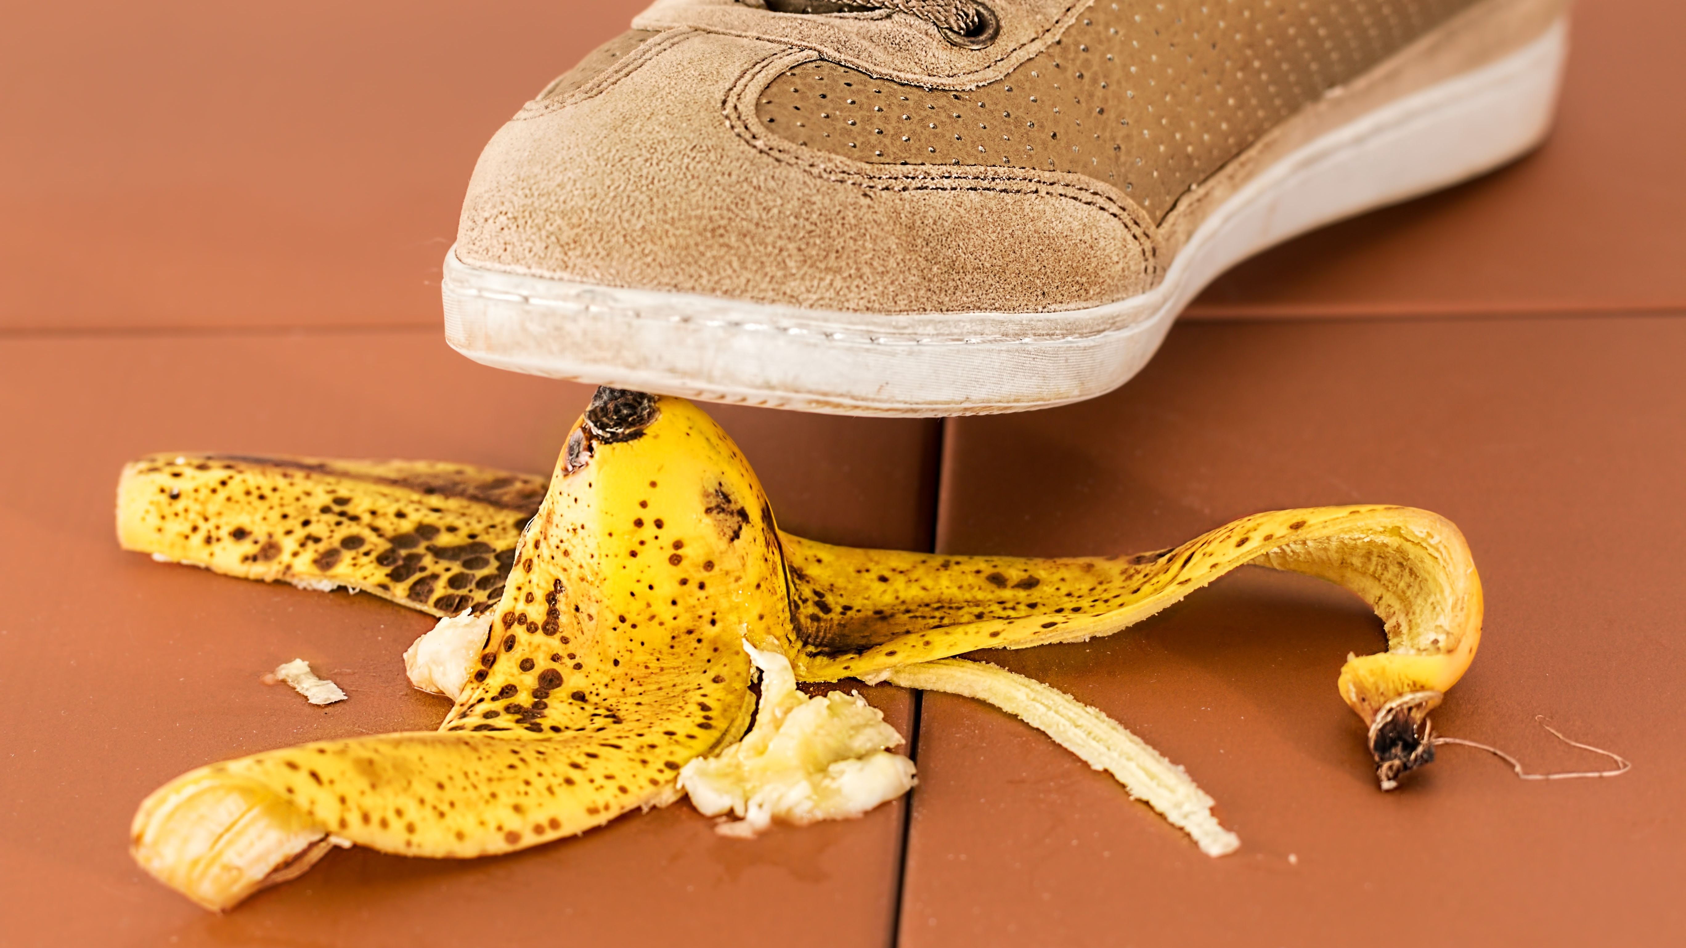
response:
<path fill-rule="evenodd" d="M 0 945 L 462 943 L 509 904 L 497 935 L 514 943 L 1647 945 L 1681 928 L 1664 894 L 1686 850 L 1669 746 L 1686 611 L 1671 0 L 1580 5 L 1560 133 L 1536 157 L 1266 253 L 1192 314 L 1288 319 L 1185 324 L 1109 398 L 953 423 L 944 464 L 949 550 L 1152 548 L 1359 498 L 1440 509 L 1475 545 L 1489 633 L 1438 724 L 1581 766 L 1534 729 L 1549 714 L 1632 774 L 1522 784 L 1445 749 L 1376 793 L 1332 688 L 1345 651 L 1374 646 L 1372 619 L 1312 582 L 1238 575 L 1138 631 L 1003 660 L 1189 766 L 1246 843 L 1226 860 L 1042 737 L 936 695 L 899 923 L 902 805 L 750 845 L 681 806 L 511 859 L 336 854 L 223 918 L 145 879 L 125 830 L 162 779 L 427 727 L 442 707 L 395 660 L 425 619 L 118 552 L 116 467 L 177 445 L 548 469 L 585 390 L 450 354 L 433 280 L 484 140 L 641 5 L 10 12 Z M 718 417 L 786 526 L 932 541 L 937 425 Z M 253 687 L 295 654 L 354 700 L 315 714 Z M 915 714 L 899 692 L 872 698 L 904 727 Z"/>

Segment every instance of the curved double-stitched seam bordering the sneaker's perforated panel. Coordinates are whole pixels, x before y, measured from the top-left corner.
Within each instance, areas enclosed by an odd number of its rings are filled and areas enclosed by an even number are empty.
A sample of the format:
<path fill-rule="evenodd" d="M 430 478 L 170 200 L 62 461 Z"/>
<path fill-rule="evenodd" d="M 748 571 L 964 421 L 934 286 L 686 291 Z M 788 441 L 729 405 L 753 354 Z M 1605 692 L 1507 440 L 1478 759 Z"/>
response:
<path fill-rule="evenodd" d="M 786 47 L 749 64 L 742 73 L 738 73 L 737 79 L 733 79 L 732 86 L 727 89 L 725 101 L 720 103 L 720 111 L 738 140 L 781 164 L 797 167 L 814 177 L 835 184 L 851 184 L 855 187 L 892 192 L 990 191 L 1000 194 L 1045 194 L 1050 197 L 1076 201 L 1086 207 L 1101 211 L 1123 224 L 1125 231 L 1130 233 L 1136 245 L 1136 253 L 1141 258 L 1140 272 L 1146 280 L 1146 285 L 1153 287 L 1158 283 L 1160 267 L 1157 228 L 1135 207 L 1133 202 L 1130 202 L 1128 197 L 1109 194 L 1108 191 L 1113 189 L 1106 189 L 1101 182 L 1091 182 L 1089 179 L 1082 179 L 1081 182 L 1066 180 L 1067 177 L 1081 179 L 1082 175 L 1062 175 L 1054 172 L 1059 177 L 1052 177 L 1047 172 L 1028 169 L 988 169 L 988 174 L 978 174 L 978 170 L 949 170 L 980 169 L 988 165 L 868 165 L 865 162 L 853 162 L 838 155 L 816 157 L 799 152 L 796 145 L 787 145 L 782 140 L 774 142 L 757 135 L 755 123 L 750 121 L 744 111 L 745 93 L 752 88 L 759 88 L 759 79 L 765 73 L 784 71 L 813 59 L 819 59 L 819 54 L 811 49 Z M 754 98 L 754 94 L 750 94 L 750 98 Z"/>

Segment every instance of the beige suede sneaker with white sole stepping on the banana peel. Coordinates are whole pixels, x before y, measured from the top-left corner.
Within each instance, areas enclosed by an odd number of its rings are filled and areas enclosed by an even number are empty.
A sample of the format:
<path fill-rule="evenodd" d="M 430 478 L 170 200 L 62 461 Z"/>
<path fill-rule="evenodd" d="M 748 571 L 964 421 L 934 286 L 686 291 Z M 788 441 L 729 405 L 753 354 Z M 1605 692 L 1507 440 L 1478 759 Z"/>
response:
<path fill-rule="evenodd" d="M 1565 17 L 659 0 L 486 147 L 447 337 L 492 366 L 818 412 L 1101 395 L 1238 260 L 1533 148 Z"/>

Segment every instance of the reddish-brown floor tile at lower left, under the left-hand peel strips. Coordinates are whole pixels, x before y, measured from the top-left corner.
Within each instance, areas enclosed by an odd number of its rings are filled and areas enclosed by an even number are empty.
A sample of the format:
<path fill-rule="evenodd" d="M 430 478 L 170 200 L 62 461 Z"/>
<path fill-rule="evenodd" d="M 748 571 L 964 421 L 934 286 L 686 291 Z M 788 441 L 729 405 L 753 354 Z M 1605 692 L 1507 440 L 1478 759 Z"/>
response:
<path fill-rule="evenodd" d="M 371 597 L 153 563 L 116 548 L 125 459 L 229 449 L 440 457 L 548 471 L 588 390 L 475 366 L 432 329 L 0 341 L 0 945 L 744 945 L 890 938 L 904 808 L 860 823 L 713 835 L 690 806 L 507 859 L 332 854 L 302 886 L 211 916 L 126 852 L 142 796 L 194 766 L 359 732 L 432 729 L 401 653 L 432 628 Z M 789 530 L 929 548 L 932 422 L 720 410 Z M 303 656 L 351 700 L 312 708 L 258 676 Z M 909 730 L 897 688 L 868 697 Z M 507 906 L 511 911 L 496 909 Z M 494 911 L 496 909 L 496 911 Z M 750 933 L 754 935 L 754 933 Z"/>

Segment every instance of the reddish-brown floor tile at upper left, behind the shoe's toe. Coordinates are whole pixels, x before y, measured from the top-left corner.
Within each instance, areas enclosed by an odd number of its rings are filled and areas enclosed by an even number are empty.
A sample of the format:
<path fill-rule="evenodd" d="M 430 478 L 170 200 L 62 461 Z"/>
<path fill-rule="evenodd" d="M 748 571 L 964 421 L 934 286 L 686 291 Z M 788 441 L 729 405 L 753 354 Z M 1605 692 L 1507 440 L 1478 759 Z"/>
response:
<path fill-rule="evenodd" d="M 437 327 L 481 147 L 646 5 L 7 10 L 0 331 Z"/>

